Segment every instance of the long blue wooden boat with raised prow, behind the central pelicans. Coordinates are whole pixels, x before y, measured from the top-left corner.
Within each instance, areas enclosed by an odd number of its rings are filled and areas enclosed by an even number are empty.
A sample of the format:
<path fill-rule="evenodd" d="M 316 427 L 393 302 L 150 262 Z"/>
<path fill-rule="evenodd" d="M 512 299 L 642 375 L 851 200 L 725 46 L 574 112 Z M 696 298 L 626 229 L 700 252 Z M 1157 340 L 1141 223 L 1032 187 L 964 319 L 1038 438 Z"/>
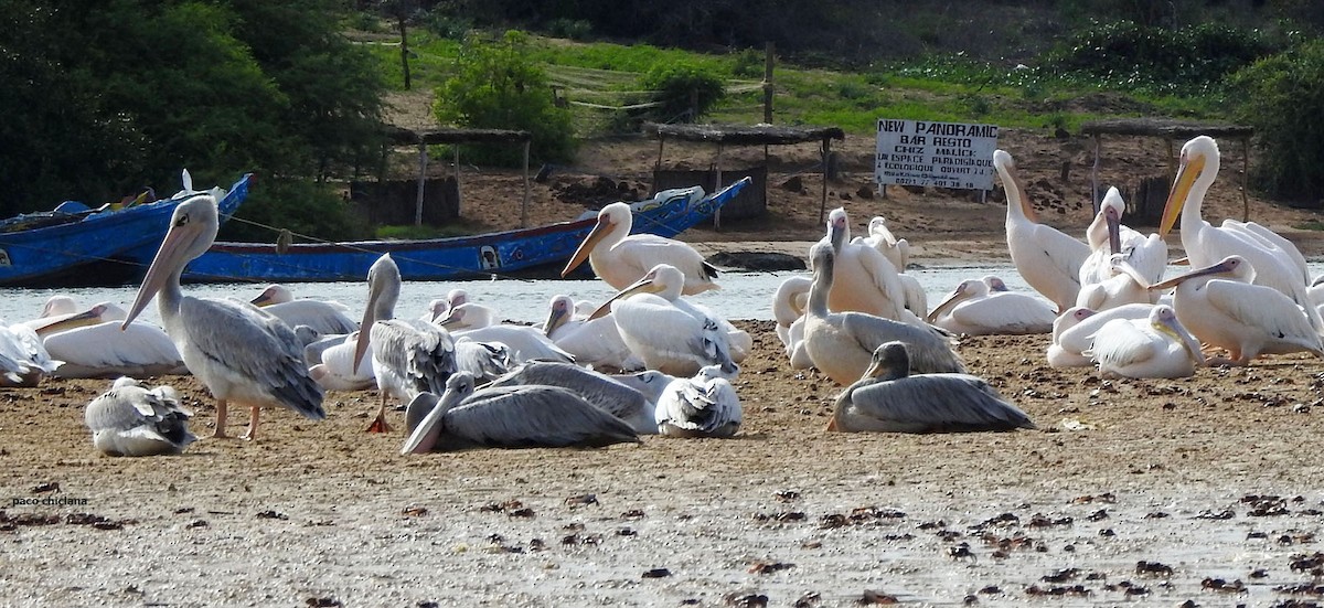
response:
<path fill-rule="evenodd" d="M 633 232 L 671 237 L 711 221 L 723 204 L 749 184 L 745 177 L 719 192 L 694 200 L 674 196 L 634 204 Z M 596 219 L 585 217 L 538 228 L 486 234 L 409 241 L 274 244 L 217 242 L 184 270 L 192 282 L 311 282 L 363 281 L 383 253 L 400 266 L 406 281 L 450 281 L 477 277 L 536 276 L 560 270 L 588 236 Z M 587 265 L 585 265 L 587 268 Z"/>

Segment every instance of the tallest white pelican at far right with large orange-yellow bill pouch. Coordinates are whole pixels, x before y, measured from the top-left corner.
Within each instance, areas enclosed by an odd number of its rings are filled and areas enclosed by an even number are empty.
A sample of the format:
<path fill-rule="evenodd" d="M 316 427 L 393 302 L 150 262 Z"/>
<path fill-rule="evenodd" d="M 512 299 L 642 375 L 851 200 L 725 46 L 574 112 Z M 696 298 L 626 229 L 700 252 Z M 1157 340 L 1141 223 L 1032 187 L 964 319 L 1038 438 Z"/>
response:
<path fill-rule="evenodd" d="M 1181 245 L 1192 268 L 1207 268 L 1227 256 L 1241 256 L 1250 262 L 1255 285 L 1274 287 L 1304 307 L 1315 331 L 1324 331 L 1324 319 L 1311 306 L 1308 286 L 1309 272 L 1305 258 L 1290 241 L 1268 228 L 1255 223 L 1225 220 L 1221 227 L 1213 227 L 1201 217 L 1201 207 L 1209 187 L 1218 176 L 1219 154 L 1213 138 L 1201 135 L 1181 147 L 1181 164 L 1168 204 L 1162 211 L 1158 233 L 1168 234 L 1181 216 Z M 1177 317 L 1181 318 L 1181 307 Z M 1182 319 L 1182 323 L 1186 323 Z M 1189 326 L 1189 323 L 1188 323 Z M 1196 331 L 1192 327 L 1196 335 Z"/>

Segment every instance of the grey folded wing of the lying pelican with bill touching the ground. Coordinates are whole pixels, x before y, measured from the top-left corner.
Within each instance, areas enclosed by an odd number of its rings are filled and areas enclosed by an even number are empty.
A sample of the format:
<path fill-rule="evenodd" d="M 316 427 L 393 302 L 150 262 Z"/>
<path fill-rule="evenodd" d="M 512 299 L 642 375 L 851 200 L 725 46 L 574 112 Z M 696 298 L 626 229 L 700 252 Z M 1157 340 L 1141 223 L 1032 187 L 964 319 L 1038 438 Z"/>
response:
<path fill-rule="evenodd" d="M 560 387 L 485 388 L 446 413 L 445 433 L 493 448 L 600 448 L 638 441 L 630 425 Z"/>

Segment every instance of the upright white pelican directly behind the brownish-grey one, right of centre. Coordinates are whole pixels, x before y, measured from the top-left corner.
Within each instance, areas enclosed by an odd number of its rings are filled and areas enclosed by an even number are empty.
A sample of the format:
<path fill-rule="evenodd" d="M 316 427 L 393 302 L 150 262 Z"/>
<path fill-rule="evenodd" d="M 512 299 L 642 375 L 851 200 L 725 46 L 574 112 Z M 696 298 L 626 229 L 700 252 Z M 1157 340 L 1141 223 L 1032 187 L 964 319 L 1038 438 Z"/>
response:
<path fill-rule="evenodd" d="M 876 249 L 850 241 L 846 209 L 828 213 L 828 236 L 835 258 L 835 281 L 828 294 L 828 309 L 837 313 L 866 313 L 886 319 L 923 325 L 906 310 L 906 287 L 892 262 Z M 813 258 L 810 258 L 813 261 Z"/>

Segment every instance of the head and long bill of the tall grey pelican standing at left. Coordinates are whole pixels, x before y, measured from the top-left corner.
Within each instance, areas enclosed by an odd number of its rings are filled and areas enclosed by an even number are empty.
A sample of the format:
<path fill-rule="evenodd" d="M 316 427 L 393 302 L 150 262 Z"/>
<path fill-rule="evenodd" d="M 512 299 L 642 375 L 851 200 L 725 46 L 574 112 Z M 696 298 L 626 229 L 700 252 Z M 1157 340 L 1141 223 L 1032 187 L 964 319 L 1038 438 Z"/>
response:
<path fill-rule="evenodd" d="M 147 302 L 151 302 L 152 297 L 162 289 L 169 286 L 176 293 L 179 291 L 179 278 L 184 273 L 184 265 L 212 246 L 218 229 L 220 220 L 214 196 L 197 195 L 175 207 L 166 238 L 162 240 L 156 257 L 147 268 L 143 285 L 138 287 L 138 295 L 134 298 L 134 305 L 128 309 L 128 315 L 124 317 L 120 329 L 128 327 L 128 323 L 132 323 L 142 314 Z"/>

